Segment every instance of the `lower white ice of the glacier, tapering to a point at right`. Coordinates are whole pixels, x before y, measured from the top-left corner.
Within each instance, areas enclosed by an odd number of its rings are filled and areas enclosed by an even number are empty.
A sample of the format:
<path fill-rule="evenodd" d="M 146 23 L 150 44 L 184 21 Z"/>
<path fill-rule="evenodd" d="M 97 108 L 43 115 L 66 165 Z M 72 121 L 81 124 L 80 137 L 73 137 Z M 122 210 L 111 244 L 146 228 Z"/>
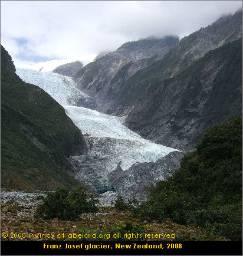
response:
<path fill-rule="evenodd" d="M 175 151 L 171 147 L 143 139 L 139 134 L 124 126 L 117 117 L 83 107 L 64 106 L 64 108 L 83 133 L 88 133 L 93 137 L 110 137 L 122 140 L 122 144 L 117 143 L 116 150 L 114 149 L 113 153 L 110 152 L 110 161 L 114 162 L 114 165 L 122 161 L 123 170 L 128 169 L 133 163 L 155 162 L 160 157 Z M 128 145 L 124 140 L 134 143 Z M 116 159 L 112 159 L 116 152 L 118 153 Z"/>

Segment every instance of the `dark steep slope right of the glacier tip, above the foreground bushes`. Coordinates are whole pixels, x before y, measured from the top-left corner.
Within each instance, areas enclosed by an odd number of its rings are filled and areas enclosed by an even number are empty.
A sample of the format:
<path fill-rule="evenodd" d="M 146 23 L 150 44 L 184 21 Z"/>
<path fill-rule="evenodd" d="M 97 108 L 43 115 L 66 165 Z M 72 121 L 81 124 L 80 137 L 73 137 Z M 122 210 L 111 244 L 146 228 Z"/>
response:
<path fill-rule="evenodd" d="M 242 114 L 242 38 L 143 93 L 126 125 L 165 146 L 192 150 L 209 127 Z"/>

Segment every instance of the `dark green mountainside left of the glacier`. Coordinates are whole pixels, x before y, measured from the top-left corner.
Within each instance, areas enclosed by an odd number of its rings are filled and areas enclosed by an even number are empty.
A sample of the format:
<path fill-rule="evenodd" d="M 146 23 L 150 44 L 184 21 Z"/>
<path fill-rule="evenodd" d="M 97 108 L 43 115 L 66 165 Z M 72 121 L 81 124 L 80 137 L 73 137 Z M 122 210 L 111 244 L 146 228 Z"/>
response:
<path fill-rule="evenodd" d="M 1 46 L 1 187 L 53 190 L 78 182 L 67 157 L 86 143 L 63 107 L 38 86 L 24 83 Z"/>

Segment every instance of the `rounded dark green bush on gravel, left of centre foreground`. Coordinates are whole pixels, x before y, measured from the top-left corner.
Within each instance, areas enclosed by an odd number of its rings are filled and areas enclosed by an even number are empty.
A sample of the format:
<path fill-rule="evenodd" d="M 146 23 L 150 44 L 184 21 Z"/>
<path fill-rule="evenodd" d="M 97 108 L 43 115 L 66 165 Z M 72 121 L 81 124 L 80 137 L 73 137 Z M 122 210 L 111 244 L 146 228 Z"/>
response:
<path fill-rule="evenodd" d="M 76 219 L 84 212 L 97 212 L 98 201 L 89 196 L 82 185 L 68 191 L 58 188 L 55 192 L 48 192 L 38 205 L 35 215 L 44 219 Z"/>

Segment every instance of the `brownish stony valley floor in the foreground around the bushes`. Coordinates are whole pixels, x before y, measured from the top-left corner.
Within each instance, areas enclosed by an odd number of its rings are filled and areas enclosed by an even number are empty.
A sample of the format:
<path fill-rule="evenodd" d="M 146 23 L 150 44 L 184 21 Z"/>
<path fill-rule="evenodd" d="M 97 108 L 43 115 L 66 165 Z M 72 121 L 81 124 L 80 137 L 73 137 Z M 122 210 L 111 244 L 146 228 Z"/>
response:
<path fill-rule="evenodd" d="M 29 197 L 31 198 L 31 196 Z M 145 227 L 143 235 L 162 234 L 165 236 L 165 234 L 170 234 L 171 236 L 175 234 L 175 238 L 163 238 L 160 235 L 159 239 L 147 238 L 147 240 L 212 240 L 210 234 L 206 234 L 203 229 L 179 225 L 170 219 L 166 219 L 163 223 L 141 222 L 139 219 L 133 218 L 130 212 L 118 211 L 111 206 L 101 206 L 97 213 L 82 214 L 81 220 L 61 221 L 57 218 L 51 220 L 35 218 L 34 211 L 38 201 L 32 197 L 32 204 L 27 201 L 23 202 L 24 199 L 19 202 L 13 198 L 6 201 L 6 198 L 3 199 L 1 195 L 1 230 L 8 233 L 8 237 L 2 238 L 2 240 L 70 240 L 68 234 L 101 234 L 102 230 L 103 234 L 109 234 L 114 227 L 122 227 L 126 223 Z M 45 237 L 47 234 L 49 235 Z M 63 237 L 58 237 L 58 234 L 62 234 Z M 82 238 L 75 239 L 82 240 Z M 92 239 L 95 238 L 87 240 Z M 226 239 L 216 238 L 216 240 Z"/>

